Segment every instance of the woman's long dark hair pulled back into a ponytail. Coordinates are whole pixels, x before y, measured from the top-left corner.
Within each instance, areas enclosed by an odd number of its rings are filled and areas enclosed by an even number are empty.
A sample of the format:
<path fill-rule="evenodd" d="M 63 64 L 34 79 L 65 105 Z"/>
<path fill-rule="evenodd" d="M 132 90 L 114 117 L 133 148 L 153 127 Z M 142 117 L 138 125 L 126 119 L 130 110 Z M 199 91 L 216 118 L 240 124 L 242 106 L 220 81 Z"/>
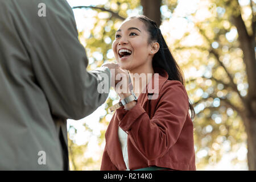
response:
<path fill-rule="evenodd" d="M 131 16 L 127 19 L 138 18 L 141 20 L 150 34 L 148 43 L 158 42 L 160 45 L 159 51 L 155 53 L 152 59 L 153 68 L 162 68 L 168 73 L 168 80 L 177 80 L 180 81 L 183 86 L 185 86 L 183 72 L 181 71 L 179 65 L 176 63 L 170 49 L 168 48 L 166 41 L 163 38 L 163 35 L 160 29 L 157 27 L 156 22 L 147 18 L 144 15 Z M 189 100 L 189 109 L 191 110 L 191 118 L 195 118 L 195 110 Z"/>

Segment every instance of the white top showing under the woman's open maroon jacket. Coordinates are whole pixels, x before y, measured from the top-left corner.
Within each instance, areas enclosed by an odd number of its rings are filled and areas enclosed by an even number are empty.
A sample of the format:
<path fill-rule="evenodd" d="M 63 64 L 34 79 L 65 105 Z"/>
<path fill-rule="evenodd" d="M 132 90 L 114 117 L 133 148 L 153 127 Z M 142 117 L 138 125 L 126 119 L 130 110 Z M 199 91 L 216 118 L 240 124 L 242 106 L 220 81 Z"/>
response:
<path fill-rule="evenodd" d="M 127 150 L 128 135 L 119 126 L 118 126 L 118 138 L 119 138 L 120 145 L 121 145 L 121 148 L 122 148 L 123 160 L 125 161 L 126 168 L 127 168 L 126 170 L 129 170 L 129 160 L 128 160 L 128 150 Z"/>

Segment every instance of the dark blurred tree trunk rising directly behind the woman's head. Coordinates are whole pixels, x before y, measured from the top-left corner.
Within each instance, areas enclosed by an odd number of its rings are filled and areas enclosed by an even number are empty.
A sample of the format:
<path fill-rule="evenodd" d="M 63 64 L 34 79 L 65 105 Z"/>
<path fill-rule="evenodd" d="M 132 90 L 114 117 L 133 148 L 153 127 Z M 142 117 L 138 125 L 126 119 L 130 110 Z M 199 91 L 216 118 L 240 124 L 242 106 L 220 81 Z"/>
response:
<path fill-rule="evenodd" d="M 158 27 L 162 23 L 161 21 L 161 6 L 162 0 L 141 0 L 141 5 L 143 7 L 143 14 L 148 18 L 154 20 Z"/>

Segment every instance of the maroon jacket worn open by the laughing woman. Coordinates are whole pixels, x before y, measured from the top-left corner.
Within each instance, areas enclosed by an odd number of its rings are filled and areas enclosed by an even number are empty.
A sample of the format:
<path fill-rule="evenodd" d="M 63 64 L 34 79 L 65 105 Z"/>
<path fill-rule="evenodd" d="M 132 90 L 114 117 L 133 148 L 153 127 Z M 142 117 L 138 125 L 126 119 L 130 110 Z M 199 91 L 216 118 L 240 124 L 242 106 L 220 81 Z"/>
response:
<path fill-rule="evenodd" d="M 115 111 L 105 133 L 101 170 L 126 169 L 118 126 L 128 134 L 130 170 L 149 166 L 196 170 L 187 92 L 181 82 L 168 80 L 166 71 L 160 68 L 154 70 L 159 73 L 159 92 L 155 92 L 152 77 L 153 89 L 141 93 L 137 105 L 131 110 L 122 106 Z M 152 97 L 151 92 L 158 96 L 157 99 L 148 99 Z"/>

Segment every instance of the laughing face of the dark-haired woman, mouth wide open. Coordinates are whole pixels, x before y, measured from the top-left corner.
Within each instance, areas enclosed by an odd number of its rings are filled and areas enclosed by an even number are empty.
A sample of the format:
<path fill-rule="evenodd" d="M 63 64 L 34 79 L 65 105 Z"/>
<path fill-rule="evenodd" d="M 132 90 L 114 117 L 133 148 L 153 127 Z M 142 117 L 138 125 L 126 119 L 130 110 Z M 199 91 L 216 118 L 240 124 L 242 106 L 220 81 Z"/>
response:
<path fill-rule="evenodd" d="M 128 19 L 121 24 L 112 44 L 115 60 L 122 69 L 129 71 L 151 64 L 149 34 L 141 20 Z"/>

